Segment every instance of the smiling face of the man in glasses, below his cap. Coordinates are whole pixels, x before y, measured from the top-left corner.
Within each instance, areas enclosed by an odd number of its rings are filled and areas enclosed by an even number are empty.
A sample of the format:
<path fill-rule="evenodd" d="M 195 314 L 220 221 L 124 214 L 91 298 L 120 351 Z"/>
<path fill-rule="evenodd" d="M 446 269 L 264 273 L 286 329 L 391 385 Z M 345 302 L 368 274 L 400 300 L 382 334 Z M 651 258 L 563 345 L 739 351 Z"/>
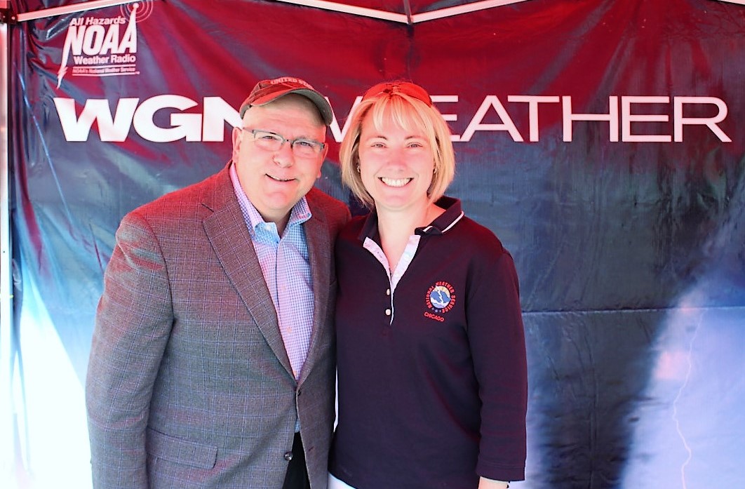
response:
<path fill-rule="evenodd" d="M 285 95 L 270 104 L 251 107 L 244 114 L 243 129 L 232 133 L 232 160 L 238 180 L 251 204 L 267 222 L 284 229 L 292 207 L 320 177 L 328 146 L 313 157 L 299 157 L 285 141 L 269 151 L 254 140 L 251 130 L 279 134 L 285 139 L 326 141 L 326 126 L 314 104 L 301 95 Z"/>

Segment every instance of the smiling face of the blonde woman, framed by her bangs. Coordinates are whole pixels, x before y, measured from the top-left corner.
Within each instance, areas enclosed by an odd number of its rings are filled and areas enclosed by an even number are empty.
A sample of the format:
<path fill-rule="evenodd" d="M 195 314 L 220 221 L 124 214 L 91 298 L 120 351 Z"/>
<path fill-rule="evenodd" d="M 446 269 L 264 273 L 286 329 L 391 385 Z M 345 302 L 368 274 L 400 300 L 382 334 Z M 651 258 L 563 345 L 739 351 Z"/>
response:
<path fill-rule="evenodd" d="M 406 130 L 390 117 L 378 130 L 368 113 L 362 121 L 359 157 L 362 183 L 376 208 L 401 211 L 428 204 L 434 149 L 424 131 Z"/>

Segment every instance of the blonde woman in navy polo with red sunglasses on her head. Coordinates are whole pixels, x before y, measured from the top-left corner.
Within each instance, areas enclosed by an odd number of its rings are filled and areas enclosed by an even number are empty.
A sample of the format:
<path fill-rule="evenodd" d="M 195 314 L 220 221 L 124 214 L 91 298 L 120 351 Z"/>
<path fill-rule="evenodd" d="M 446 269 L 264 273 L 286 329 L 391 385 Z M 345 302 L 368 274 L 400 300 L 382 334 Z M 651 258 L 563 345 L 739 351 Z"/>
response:
<path fill-rule="evenodd" d="M 444 197 L 450 132 L 425 89 L 368 90 L 340 148 L 370 207 L 336 244 L 339 417 L 330 488 L 524 479 L 527 373 L 510 253 Z"/>

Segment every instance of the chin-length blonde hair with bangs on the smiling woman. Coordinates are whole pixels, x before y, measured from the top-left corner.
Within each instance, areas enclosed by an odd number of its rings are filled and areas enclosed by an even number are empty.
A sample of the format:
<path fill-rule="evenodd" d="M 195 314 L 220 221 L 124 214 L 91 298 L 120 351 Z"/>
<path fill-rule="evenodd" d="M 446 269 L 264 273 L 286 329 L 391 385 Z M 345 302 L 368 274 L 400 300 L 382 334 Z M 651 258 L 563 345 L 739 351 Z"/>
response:
<path fill-rule="evenodd" d="M 342 183 L 352 190 L 362 204 L 370 209 L 375 206 L 358 171 L 362 122 L 368 114 L 373 117 L 373 124 L 378 129 L 383 126 L 385 119 L 390 118 L 403 129 L 422 130 L 434 153 L 434 174 L 427 195 L 430 202 L 442 197 L 455 177 L 450 128 L 425 89 L 408 81 L 373 86 L 350 114 L 349 130 L 339 148 Z"/>

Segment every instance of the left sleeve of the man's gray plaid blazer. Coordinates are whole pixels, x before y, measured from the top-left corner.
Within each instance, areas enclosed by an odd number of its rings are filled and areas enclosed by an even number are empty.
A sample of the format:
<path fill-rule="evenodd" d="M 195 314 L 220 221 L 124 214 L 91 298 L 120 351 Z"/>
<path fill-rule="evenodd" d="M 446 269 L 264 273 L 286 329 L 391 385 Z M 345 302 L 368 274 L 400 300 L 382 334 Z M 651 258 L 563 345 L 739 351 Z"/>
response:
<path fill-rule="evenodd" d="M 86 376 L 96 489 L 148 487 L 145 430 L 172 324 L 165 260 L 150 225 L 135 211 L 116 232 Z"/>

